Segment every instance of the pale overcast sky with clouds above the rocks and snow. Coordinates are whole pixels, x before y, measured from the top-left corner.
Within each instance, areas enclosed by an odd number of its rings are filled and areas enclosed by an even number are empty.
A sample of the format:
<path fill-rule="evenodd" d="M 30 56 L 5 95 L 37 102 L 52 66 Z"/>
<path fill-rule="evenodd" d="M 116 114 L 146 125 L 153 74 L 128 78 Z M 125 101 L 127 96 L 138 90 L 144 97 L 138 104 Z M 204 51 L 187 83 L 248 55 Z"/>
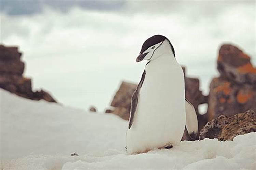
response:
<path fill-rule="evenodd" d="M 140 80 L 135 58 L 152 35 L 170 39 L 207 94 L 222 43 L 256 64 L 255 30 L 254 1 L 1 0 L 1 43 L 19 46 L 34 89 L 83 109 L 103 110 L 121 80 Z"/>

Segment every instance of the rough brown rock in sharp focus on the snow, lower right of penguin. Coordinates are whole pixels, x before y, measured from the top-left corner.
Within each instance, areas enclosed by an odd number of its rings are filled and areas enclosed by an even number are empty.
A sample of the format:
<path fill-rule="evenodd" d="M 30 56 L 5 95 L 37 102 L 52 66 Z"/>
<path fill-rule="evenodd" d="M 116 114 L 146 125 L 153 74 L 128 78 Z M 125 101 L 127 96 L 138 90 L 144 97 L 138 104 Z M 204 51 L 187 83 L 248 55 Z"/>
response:
<path fill-rule="evenodd" d="M 233 140 L 237 135 L 256 132 L 256 115 L 248 110 L 231 117 L 221 115 L 209 121 L 200 131 L 199 140 L 217 138 L 220 141 Z"/>

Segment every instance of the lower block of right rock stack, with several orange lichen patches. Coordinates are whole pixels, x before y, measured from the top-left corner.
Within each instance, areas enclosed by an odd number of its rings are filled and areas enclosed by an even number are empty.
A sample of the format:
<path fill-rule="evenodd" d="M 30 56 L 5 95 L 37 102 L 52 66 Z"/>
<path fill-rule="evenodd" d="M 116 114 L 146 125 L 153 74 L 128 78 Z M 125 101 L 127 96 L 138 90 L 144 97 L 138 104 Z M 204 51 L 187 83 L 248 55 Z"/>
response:
<path fill-rule="evenodd" d="M 256 91 L 250 84 L 228 82 L 225 78 L 214 78 L 210 84 L 208 98 L 208 121 L 220 116 L 232 116 L 234 111 L 256 110 Z"/>

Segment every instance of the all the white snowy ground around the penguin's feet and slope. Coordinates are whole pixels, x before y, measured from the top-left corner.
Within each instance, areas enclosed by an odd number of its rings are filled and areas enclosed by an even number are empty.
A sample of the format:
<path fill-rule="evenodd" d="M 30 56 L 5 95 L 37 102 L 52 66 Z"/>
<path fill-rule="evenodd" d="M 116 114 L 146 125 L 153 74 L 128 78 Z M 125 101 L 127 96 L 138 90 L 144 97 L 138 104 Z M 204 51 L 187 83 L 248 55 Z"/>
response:
<path fill-rule="evenodd" d="M 126 128 L 115 115 L 27 100 L 0 89 L 0 169 L 256 169 L 256 133 L 127 155 Z"/>

